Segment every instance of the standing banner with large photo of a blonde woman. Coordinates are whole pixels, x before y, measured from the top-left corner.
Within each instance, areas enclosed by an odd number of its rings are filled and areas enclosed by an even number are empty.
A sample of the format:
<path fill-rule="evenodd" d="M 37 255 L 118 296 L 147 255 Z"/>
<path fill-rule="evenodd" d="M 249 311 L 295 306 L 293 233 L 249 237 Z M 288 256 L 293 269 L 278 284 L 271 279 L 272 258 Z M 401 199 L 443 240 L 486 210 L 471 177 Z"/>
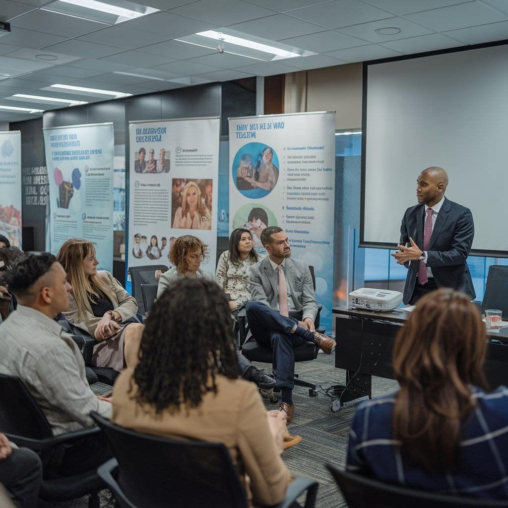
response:
<path fill-rule="evenodd" d="M 219 132 L 218 117 L 129 122 L 129 266 L 170 267 L 175 239 L 193 235 L 215 274 Z"/>

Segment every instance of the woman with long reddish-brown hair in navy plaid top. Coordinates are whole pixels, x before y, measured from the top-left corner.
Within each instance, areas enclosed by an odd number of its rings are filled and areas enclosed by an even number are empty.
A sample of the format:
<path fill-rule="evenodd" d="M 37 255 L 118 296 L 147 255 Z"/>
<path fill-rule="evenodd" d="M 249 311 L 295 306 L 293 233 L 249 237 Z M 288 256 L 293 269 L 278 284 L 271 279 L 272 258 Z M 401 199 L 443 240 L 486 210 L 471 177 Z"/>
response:
<path fill-rule="evenodd" d="M 508 390 L 487 389 L 485 323 L 464 293 L 425 295 L 400 329 L 400 389 L 362 402 L 346 468 L 433 492 L 508 497 Z"/>

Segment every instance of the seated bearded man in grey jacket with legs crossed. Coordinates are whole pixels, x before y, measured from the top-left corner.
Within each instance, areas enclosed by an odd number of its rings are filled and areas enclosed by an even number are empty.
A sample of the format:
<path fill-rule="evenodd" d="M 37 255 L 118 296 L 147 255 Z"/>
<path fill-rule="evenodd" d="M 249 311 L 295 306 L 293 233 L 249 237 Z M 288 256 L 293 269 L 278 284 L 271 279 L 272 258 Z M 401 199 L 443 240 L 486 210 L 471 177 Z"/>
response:
<path fill-rule="evenodd" d="M 268 256 L 250 267 L 252 301 L 245 309 L 253 337 L 273 350 L 275 382 L 282 392 L 279 411 L 285 412 L 290 423 L 295 410 L 293 348 L 309 341 L 331 354 L 336 344 L 315 331 L 317 303 L 312 276 L 305 262 L 290 259 L 288 236 L 281 228 L 269 226 L 261 233 L 261 243 Z"/>

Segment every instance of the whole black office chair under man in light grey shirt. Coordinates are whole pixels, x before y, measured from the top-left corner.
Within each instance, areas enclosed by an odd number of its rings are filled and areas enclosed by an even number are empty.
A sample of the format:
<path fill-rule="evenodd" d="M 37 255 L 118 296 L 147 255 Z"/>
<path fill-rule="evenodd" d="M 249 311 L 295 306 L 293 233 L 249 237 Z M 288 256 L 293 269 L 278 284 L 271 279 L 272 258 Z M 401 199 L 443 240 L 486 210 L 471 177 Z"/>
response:
<path fill-rule="evenodd" d="M 73 441 L 101 432 L 98 427 L 53 435 L 48 420 L 19 377 L 0 374 L 0 429 L 18 446 L 29 448 L 40 457 L 44 471 L 52 470 L 54 460 Z M 99 491 L 106 485 L 92 469 L 68 477 L 46 478 L 39 497 L 48 502 L 68 501 L 90 495 L 89 508 L 99 508 Z"/>

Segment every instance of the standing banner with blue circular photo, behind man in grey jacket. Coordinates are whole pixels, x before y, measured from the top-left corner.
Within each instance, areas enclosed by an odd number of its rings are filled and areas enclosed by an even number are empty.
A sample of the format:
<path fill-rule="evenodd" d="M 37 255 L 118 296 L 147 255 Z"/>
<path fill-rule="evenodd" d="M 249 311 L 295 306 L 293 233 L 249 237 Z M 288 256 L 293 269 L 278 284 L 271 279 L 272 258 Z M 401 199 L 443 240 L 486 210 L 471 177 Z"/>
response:
<path fill-rule="evenodd" d="M 332 330 L 335 112 L 229 120 L 230 232 L 279 226 L 291 256 L 314 267 L 321 326 Z"/>

